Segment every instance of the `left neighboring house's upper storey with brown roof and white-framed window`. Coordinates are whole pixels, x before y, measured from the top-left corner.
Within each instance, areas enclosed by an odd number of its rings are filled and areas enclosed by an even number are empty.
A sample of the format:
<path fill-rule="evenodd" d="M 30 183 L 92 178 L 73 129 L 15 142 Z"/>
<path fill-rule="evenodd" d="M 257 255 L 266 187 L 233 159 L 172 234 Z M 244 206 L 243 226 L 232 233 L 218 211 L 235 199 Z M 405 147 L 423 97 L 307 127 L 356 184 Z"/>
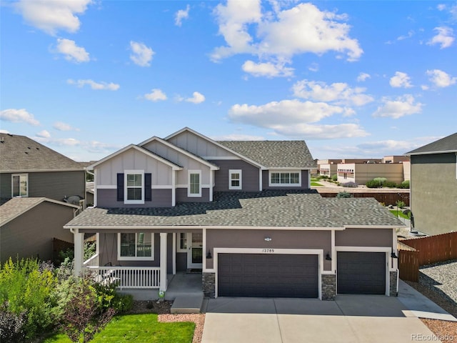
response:
<path fill-rule="evenodd" d="M 0 134 L 0 199 L 85 198 L 85 171 L 78 162 L 26 136 Z"/>

